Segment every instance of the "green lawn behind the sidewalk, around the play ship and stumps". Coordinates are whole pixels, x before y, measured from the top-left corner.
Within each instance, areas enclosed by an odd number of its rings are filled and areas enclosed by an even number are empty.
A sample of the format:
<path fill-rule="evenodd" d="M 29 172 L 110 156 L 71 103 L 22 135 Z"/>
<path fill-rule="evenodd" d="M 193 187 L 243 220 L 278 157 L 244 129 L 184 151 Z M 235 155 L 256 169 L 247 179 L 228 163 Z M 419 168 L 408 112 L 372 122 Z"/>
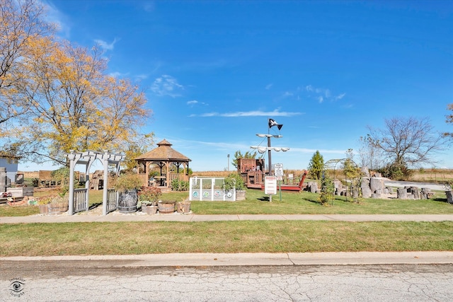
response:
<path fill-rule="evenodd" d="M 39 192 L 42 194 L 42 192 Z M 47 194 L 49 194 L 47 192 Z M 188 192 L 169 192 L 162 199 L 181 200 Z M 247 199 L 241 202 L 200 202 L 193 201 L 194 214 L 453 214 L 453 204 L 447 203 L 444 192 L 438 192 L 428 200 L 362 199 L 360 204 L 351 198 L 336 197 L 333 204 L 319 204 L 318 194 L 310 192 L 282 192 L 273 196 L 260 190 L 248 190 Z M 90 192 L 91 204 L 102 203 L 102 191 Z M 38 214 L 38 207 L 0 206 L 0 216 L 27 216 Z"/>

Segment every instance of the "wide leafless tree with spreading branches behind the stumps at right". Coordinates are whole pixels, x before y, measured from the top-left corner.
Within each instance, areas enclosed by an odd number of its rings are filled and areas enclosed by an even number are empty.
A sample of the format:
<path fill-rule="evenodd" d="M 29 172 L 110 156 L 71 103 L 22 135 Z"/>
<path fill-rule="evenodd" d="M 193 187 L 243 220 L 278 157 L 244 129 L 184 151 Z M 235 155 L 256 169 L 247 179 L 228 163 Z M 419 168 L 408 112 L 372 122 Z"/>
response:
<path fill-rule="evenodd" d="M 442 149 L 442 134 L 434 131 L 428 117 L 393 117 L 385 120 L 384 129 L 368 129 L 369 143 L 392 165 L 432 163 L 432 153 Z"/>

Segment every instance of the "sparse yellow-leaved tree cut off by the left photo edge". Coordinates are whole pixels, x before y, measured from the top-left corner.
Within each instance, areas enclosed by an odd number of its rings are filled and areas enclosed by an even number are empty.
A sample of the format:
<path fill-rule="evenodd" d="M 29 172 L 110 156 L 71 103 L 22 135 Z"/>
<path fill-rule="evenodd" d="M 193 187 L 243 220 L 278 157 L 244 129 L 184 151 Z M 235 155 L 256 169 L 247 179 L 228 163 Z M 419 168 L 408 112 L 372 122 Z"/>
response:
<path fill-rule="evenodd" d="M 45 8 L 36 0 L 0 0 L 0 139 L 13 136 L 15 125 L 28 110 L 18 95 L 26 74 L 25 58 L 35 39 L 52 35 L 55 25 L 42 21 Z M 1 156 L 16 158 L 16 145 L 9 142 Z"/>

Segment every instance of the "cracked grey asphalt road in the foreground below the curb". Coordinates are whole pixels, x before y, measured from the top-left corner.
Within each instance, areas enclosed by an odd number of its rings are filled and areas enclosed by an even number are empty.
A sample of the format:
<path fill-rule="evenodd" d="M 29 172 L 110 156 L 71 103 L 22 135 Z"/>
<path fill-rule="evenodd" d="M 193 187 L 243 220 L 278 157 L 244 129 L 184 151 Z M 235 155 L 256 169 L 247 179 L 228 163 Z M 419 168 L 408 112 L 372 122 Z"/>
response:
<path fill-rule="evenodd" d="M 2 261 L 1 301 L 452 301 L 453 265 L 130 267 Z"/>

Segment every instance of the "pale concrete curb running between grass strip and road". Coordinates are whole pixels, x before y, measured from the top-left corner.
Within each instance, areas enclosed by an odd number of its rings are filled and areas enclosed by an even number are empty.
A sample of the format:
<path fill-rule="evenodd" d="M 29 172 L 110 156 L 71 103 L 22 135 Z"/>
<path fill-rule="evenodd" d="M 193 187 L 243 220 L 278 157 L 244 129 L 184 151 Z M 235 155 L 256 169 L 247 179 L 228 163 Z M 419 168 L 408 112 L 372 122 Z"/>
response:
<path fill-rule="evenodd" d="M 0 257 L 6 261 L 103 261 L 102 267 L 212 267 L 253 265 L 432 265 L 453 264 L 453 252 L 288 252 L 193 253 L 148 255 L 90 255 L 49 257 Z M 115 264 L 115 262 L 119 262 Z M 88 263 L 86 263 L 88 265 Z"/>

